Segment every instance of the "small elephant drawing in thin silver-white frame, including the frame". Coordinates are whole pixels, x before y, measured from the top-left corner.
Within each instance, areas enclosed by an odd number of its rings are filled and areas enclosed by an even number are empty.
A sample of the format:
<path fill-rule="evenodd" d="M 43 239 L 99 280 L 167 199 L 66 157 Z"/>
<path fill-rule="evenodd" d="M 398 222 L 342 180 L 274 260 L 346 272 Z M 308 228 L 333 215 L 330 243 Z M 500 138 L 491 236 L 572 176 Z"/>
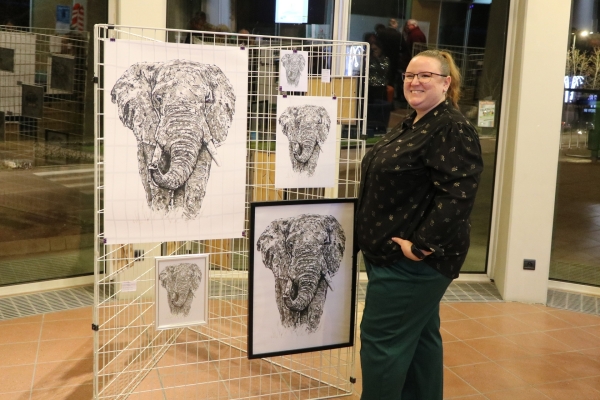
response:
<path fill-rule="evenodd" d="M 156 257 L 156 329 L 208 322 L 208 254 Z"/>

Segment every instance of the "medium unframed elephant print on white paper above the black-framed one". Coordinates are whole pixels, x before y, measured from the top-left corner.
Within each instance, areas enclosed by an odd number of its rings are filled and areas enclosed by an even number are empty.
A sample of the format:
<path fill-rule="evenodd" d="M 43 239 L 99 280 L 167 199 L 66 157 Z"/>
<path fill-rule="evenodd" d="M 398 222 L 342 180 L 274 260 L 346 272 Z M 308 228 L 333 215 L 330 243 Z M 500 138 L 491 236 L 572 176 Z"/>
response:
<path fill-rule="evenodd" d="M 337 106 L 332 97 L 277 97 L 276 188 L 335 186 Z"/>

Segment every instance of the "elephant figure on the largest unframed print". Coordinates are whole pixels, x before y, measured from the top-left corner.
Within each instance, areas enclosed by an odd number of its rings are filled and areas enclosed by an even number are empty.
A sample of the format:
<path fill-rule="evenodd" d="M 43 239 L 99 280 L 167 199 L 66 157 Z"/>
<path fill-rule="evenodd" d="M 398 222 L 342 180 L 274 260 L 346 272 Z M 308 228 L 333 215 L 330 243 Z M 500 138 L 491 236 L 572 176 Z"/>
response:
<path fill-rule="evenodd" d="M 111 98 L 137 139 L 148 206 L 197 217 L 235 111 L 225 74 L 216 65 L 188 60 L 139 62 L 117 80 Z"/>

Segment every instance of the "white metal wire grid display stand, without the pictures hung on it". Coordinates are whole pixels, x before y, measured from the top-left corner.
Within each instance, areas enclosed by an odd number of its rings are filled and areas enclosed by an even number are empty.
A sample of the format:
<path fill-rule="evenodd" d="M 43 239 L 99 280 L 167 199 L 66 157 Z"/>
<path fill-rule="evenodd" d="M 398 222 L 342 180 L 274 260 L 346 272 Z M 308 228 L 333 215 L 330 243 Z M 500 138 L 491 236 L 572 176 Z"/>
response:
<path fill-rule="evenodd" d="M 323 399 L 350 395 L 354 349 L 248 360 L 248 228 L 251 201 L 355 197 L 364 154 L 366 74 L 362 43 L 194 32 L 191 44 L 249 50 L 245 238 L 105 244 L 103 235 L 102 45 L 105 40 L 183 41 L 187 31 L 99 25 L 95 32 L 96 262 L 95 399 Z M 279 91 L 281 50 L 310 52 L 306 93 Z M 322 79 L 331 70 L 330 81 Z M 333 188 L 276 189 L 278 94 L 338 99 L 338 179 Z M 154 257 L 209 253 L 209 317 L 191 328 L 156 330 Z M 135 289 L 124 282 L 135 281 Z"/>

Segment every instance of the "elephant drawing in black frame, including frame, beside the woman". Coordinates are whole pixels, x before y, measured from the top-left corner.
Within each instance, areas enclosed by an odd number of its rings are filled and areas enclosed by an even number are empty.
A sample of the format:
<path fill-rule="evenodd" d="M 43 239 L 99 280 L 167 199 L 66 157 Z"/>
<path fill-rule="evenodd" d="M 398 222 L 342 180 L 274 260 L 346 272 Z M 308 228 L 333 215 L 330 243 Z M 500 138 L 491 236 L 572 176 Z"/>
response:
<path fill-rule="evenodd" d="M 252 203 L 248 358 L 354 342 L 354 199 Z"/>

